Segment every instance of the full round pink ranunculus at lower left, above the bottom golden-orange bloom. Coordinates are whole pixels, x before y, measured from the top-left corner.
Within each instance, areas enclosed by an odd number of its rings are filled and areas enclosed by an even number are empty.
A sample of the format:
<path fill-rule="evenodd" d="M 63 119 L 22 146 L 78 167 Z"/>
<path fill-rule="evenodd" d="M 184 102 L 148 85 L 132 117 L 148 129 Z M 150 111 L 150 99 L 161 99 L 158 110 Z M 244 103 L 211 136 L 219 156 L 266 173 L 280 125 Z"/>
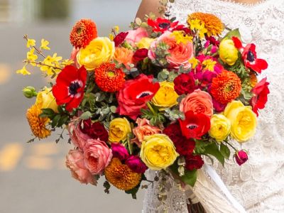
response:
<path fill-rule="evenodd" d="M 89 139 L 84 146 L 84 165 L 93 175 L 102 174 L 112 158 L 111 149 L 107 143 L 99 139 Z"/>

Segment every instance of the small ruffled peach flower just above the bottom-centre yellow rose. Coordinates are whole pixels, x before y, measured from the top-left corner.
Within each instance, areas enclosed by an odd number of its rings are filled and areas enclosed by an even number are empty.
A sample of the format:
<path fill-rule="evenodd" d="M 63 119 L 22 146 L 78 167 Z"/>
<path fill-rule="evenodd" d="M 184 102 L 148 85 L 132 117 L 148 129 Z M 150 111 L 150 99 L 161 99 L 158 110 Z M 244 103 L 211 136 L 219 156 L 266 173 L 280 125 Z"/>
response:
<path fill-rule="evenodd" d="M 150 121 L 147 119 L 140 119 L 136 120 L 136 124 L 138 126 L 133 129 L 133 134 L 136 138 L 133 138 L 132 142 L 136 143 L 139 147 L 141 147 L 141 143 L 144 140 L 144 136 L 151 136 L 155 133 L 162 133 L 160 129 L 156 126 L 151 126 Z"/>

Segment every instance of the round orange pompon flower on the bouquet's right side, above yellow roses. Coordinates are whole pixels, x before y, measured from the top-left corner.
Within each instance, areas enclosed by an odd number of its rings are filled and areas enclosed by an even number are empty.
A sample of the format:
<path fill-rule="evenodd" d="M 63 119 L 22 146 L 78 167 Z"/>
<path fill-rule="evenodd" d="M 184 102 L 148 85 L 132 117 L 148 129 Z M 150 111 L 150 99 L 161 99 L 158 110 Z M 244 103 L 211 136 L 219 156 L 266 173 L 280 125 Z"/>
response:
<path fill-rule="evenodd" d="M 234 72 L 223 70 L 213 78 L 211 94 L 217 102 L 227 104 L 241 94 L 241 80 Z"/>

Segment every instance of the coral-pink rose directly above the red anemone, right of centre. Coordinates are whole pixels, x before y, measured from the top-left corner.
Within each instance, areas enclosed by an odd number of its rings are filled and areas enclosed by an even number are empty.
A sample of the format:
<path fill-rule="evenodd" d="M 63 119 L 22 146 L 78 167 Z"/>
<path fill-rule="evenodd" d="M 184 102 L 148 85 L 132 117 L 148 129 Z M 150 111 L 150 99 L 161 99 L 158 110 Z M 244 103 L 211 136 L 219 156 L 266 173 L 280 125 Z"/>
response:
<path fill-rule="evenodd" d="M 182 99 L 182 102 L 180 102 L 180 111 L 184 113 L 193 111 L 195 114 L 202 113 L 211 117 L 213 115 L 212 97 L 208 92 L 196 89 Z"/>

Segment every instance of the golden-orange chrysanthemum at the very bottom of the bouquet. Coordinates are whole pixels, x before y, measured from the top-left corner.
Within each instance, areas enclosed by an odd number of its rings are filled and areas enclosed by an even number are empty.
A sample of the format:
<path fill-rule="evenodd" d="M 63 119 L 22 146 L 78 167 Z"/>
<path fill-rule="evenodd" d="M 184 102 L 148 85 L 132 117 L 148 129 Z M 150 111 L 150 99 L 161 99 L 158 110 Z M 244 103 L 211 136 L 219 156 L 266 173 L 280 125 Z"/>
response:
<path fill-rule="evenodd" d="M 128 165 L 122 164 L 119 158 L 111 159 L 111 163 L 105 168 L 104 174 L 107 181 L 119 190 L 131 190 L 141 181 L 141 174 L 134 173 Z"/>

